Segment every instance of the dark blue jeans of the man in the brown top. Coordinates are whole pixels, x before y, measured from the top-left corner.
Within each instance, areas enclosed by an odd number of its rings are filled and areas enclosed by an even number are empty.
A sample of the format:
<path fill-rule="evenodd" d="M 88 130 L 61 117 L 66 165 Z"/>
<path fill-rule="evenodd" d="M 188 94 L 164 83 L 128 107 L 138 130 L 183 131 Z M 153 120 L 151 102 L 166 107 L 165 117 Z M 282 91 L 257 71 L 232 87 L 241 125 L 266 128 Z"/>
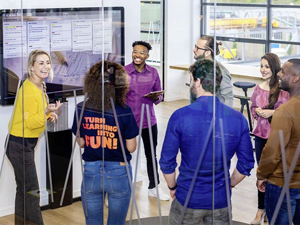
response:
<path fill-rule="evenodd" d="M 273 213 L 281 191 L 282 191 L 281 186 L 277 186 L 266 182 L 264 204 L 265 204 L 265 213 L 269 222 L 273 217 Z M 300 188 L 289 188 L 289 195 L 290 195 L 292 222 L 294 225 L 300 224 Z M 286 194 L 284 194 L 274 224 L 289 224 Z"/>

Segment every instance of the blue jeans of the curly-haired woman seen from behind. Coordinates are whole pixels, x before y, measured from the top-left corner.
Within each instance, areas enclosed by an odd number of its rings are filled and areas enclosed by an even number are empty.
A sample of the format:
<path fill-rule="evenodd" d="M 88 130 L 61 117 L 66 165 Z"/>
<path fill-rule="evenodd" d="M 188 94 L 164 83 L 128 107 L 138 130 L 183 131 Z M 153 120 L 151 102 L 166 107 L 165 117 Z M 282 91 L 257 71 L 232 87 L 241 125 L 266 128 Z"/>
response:
<path fill-rule="evenodd" d="M 86 224 L 103 224 L 103 192 L 108 195 L 107 224 L 124 224 L 131 196 L 130 183 L 126 166 L 117 161 L 104 161 L 104 174 L 102 161 L 84 162 L 84 181 L 86 191 L 87 215 L 81 183 L 81 199 Z M 132 177 L 132 169 L 129 164 Z M 104 185 L 102 183 L 104 179 Z M 102 190 L 103 189 L 103 190 Z"/>

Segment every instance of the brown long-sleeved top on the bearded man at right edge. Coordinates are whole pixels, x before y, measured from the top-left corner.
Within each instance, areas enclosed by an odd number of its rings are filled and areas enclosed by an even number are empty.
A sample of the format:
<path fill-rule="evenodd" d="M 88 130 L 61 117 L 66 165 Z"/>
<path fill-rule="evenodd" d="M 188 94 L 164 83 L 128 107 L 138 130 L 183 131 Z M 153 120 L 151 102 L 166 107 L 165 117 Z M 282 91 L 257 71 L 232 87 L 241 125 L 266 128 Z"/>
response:
<path fill-rule="evenodd" d="M 271 122 L 271 132 L 262 150 L 257 178 L 271 184 L 283 186 L 284 174 L 280 150 L 279 130 L 283 131 L 287 171 L 293 160 L 300 139 L 300 95 L 291 97 L 274 112 Z M 289 188 L 300 188 L 300 157 L 293 169 Z"/>

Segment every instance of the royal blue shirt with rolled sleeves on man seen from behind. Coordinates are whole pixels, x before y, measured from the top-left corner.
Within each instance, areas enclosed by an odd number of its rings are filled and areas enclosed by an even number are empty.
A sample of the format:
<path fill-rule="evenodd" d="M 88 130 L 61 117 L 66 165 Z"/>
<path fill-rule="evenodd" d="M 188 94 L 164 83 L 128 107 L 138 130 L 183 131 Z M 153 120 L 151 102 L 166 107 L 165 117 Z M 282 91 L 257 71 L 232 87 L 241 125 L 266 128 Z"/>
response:
<path fill-rule="evenodd" d="M 181 163 L 175 195 L 181 205 L 184 205 L 212 113 L 213 96 L 200 96 L 194 103 L 177 109 L 168 121 L 159 165 L 165 174 L 174 172 L 177 166 L 176 155 L 180 149 Z M 215 97 L 214 208 L 227 206 L 219 119 L 223 123 L 227 169 L 230 168 L 230 159 L 235 153 L 236 168 L 240 173 L 250 175 L 249 172 L 254 166 L 247 120 L 239 111 L 226 106 Z M 187 204 L 188 208 L 212 209 L 212 141 L 211 133 Z M 230 183 L 229 177 L 228 181 Z"/>

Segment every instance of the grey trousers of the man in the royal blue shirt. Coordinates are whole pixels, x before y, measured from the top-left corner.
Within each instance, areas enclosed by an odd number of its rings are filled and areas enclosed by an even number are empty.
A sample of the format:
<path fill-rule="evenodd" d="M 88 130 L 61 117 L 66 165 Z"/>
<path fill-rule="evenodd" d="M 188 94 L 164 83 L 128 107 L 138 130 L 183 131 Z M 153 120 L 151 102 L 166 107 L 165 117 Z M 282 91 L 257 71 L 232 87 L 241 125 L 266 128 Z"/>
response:
<path fill-rule="evenodd" d="M 182 210 L 183 206 L 175 198 L 171 204 L 168 224 L 212 224 L 212 209 L 186 208 L 183 220 L 179 223 Z M 227 207 L 214 209 L 213 224 L 229 224 Z"/>

